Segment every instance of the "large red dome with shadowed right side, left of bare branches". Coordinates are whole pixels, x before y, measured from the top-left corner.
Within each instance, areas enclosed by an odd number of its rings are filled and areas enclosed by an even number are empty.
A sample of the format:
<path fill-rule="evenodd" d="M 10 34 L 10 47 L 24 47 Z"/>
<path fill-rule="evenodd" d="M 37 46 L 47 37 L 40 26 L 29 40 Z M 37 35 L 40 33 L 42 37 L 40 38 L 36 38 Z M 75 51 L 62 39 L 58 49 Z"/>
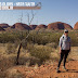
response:
<path fill-rule="evenodd" d="M 11 26 L 11 28 L 13 29 L 17 29 L 17 30 L 30 30 L 31 28 L 27 25 L 27 24 L 23 24 L 23 23 L 15 23 L 13 26 Z"/>

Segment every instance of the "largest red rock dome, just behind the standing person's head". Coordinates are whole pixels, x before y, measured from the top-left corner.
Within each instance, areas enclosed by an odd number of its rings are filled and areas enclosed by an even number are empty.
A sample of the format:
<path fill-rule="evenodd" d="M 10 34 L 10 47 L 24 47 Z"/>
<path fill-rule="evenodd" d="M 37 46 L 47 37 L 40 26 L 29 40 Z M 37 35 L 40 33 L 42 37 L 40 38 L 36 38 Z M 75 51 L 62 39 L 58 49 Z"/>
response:
<path fill-rule="evenodd" d="M 66 23 L 55 22 L 49 24 L 48 29 L 73 29 L 73 27 Z"/>

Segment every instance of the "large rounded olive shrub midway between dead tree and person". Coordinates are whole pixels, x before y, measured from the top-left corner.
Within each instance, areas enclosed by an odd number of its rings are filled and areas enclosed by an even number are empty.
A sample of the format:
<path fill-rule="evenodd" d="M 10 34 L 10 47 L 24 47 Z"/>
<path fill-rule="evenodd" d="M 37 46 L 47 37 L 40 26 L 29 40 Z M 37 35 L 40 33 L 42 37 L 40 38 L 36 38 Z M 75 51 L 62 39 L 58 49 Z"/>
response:
<path fill-rule="evenodd" d="M 37 46 L 37 44 L 30 48 L 29 50 L 30 55 L 39 58 L 41 63 L 50 58 L 51 52 L 52 52 L 52 48 L 48 48 L 44 46 Z"/>

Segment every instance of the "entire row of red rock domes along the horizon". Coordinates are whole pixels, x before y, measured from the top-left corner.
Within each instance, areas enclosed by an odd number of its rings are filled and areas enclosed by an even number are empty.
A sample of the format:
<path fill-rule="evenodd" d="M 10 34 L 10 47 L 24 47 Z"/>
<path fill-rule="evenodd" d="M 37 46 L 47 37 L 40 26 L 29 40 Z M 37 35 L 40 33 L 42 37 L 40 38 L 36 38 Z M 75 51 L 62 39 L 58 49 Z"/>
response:
<path fill-rule="evenodd" d="M 0 24 L 0 27 L 3 29 L 8 30 L 32 30 L 32 29 L 53 29 L 53 30 L 61 30 L 61 29 L 73 29 L 73 27 L 69 24 L 62 23 L 62 22 L 55 22 L 55 23 L 50 23 L 48 26 L 44 24 L 40 25 L 30 25 L 28 26 L 27 24 L 24 23 L 15 23 L 14 25 L 10 26 L 8 24 Z M 78 22 L 75 24 L 74 29 L 78 29 Z"/>

